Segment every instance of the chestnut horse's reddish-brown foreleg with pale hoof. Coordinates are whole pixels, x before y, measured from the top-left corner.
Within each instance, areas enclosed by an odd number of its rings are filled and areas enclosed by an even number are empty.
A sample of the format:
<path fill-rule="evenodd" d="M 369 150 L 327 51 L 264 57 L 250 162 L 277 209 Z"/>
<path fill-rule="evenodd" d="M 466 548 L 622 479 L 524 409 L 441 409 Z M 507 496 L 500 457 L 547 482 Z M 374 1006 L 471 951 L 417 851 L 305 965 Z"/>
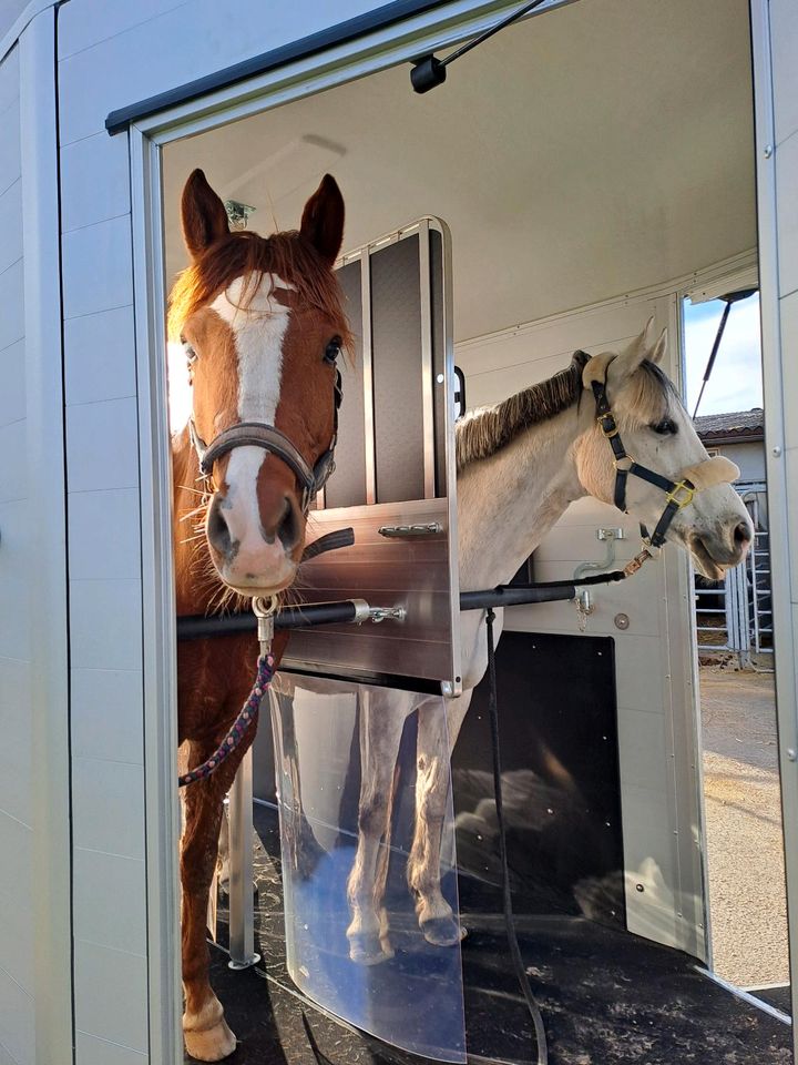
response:
<path fill-rule="evenodd" d="M 201 1062 L 218 1062 L 236 1047 L 235 1035 L 225 1022 L 222 1003 L 208 978 L 206 919 L 223 801 L 247 746 L 246 741 L 242 743 L 213 777 L 185 789 L 185 830 L 181 842 L 183 1034 L 186 1049 Z M 192 743 L 190 764 L 198 765 L 216 747 L 215 742 Z"/>

